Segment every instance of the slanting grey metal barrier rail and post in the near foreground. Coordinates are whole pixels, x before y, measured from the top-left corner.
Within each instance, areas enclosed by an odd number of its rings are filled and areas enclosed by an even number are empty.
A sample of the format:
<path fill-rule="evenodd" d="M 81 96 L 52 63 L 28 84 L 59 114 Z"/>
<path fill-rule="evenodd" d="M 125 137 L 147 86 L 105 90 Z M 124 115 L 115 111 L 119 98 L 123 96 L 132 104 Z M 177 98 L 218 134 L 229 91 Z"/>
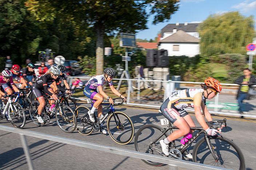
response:
<path fill-rule="evenodd" d="M 29 170 L 33 170 L 34 168 L 33 168 L 33 162 L 31 160 L 31 157 L 29 154 L 27 141 L 26 141 L 26 138 L 24 135 L 36 137 L 36 138 L 40 138 L 40 139 L 45 139 L 45 140 L 51 140 L 51 141 L 55 141 L 55 142 L 59 142 L 59 143 L 69 144 L 69 145 L 80 146 L 83 148 L 89 148 L 89 149 L 100 150 L 100 151 L 109 152 L 109 153 L 113 153 L 113 154 L 119 154 L 119 155 L 123 155 L 123 156 L 127 156 L 127 157 L 133 157 L 133 158 L 149 160 L 149 161 L 153 161 L 153 162 L 164 163 L 164 164 L 170 165 L 172 170 L 177 170 L 177 167 L 193 169 L 193 170 L 228 170 L 228 169 L 221 168 L 221 167 L 204 165 L 201 163 L 184 161 L 184 160 L 177 160 L 177 159 L 172 159 L 172 158 L 168 158 L 168 157 L 156 156 L 156 155 L 152 155 L 152 154 L 148 154 L 148 153 L 141 153 L 141 152 L 136 152 L 133 150 L 121 149 L 121 148 L 116 148 L 116 147 L 111 147 L 111 146 L 104 146 L 104 145 L 89 143 L 89 142 L 85 142 L 85 141 L 81 141 L 81 140 L 53 136 L 53 135 L 48 135 L 45 133 L 27 131 L 27 130 L 17 129 L 17 128 L 13 128 L 13 127 L 8 127 L 8 126 L 0 125 L 0 130 L 20 134 L 21 143 L 23 146 L 23 150 L 24 150 L 27 162 L 28 162 Z"/>

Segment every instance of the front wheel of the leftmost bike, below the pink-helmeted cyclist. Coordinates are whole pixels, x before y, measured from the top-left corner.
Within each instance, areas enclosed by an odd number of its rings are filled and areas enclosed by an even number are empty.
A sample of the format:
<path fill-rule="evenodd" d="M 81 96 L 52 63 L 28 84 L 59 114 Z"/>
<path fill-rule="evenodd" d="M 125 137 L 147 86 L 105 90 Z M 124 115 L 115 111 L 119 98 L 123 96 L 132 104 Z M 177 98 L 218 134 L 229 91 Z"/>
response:
<path fill-rule="evenodd" d="M 22 129 L 26 124 L 26 115 L 24 109 L 17 102 L 9 106 L 8 116 L 14 127 Z"/>

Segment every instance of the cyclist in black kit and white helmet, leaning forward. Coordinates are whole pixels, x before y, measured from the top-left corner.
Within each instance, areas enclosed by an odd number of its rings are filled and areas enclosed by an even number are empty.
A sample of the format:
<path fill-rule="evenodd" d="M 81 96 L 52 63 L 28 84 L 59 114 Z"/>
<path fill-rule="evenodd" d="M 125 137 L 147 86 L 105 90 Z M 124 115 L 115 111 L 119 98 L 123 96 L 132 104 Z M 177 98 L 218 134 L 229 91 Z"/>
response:
<path fill-rule="evenodd" d="M 57 95 L 54 93 L 53 89 L 50 88 L 49 86 L 53 84 L 53 86 L 55 86 L 55 88 L 57 89 L 57 83 L 59 83 L 59 79 L 58 79 L 59 75 L 60 75 L 60 69 L 57 66 L 52 65 L 52 67 L 49 69 L 49 72 L 38 77 L 36 79 L 35 84 L 33 85 L 32 91 L 40 103 L 38 106 L 37 116 L 36 116 L 39 123 L 44 123 L 44 120 L 41 117 L 41 112 L 45 106 L 45 100 L 44 100 L 42 91 L 50 95 L 51 98 L 53 98 L 54 100 L 57 100 L 58 99 Z"/>

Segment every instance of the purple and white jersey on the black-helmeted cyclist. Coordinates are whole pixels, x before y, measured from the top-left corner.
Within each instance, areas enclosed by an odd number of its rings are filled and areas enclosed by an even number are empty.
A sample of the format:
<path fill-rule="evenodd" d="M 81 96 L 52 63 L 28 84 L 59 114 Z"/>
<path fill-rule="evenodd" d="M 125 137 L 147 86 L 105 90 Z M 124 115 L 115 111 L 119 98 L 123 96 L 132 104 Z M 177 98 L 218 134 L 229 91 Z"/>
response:
<path fill-rule="evenodd" d="M 112 86 L 113 83 L 112 81 L 108 82 L 104 80 L 104 74 L 103 75 L 97 75 L 97 76 L 93 76 L 92 78 L 90 78 L 90 80 L 88 80 L 88 82 L 85 84 L 86 89 L 97 89 L 98 86 L 102 86 L 104 84 L 108 83 L 109 86 Z"/>

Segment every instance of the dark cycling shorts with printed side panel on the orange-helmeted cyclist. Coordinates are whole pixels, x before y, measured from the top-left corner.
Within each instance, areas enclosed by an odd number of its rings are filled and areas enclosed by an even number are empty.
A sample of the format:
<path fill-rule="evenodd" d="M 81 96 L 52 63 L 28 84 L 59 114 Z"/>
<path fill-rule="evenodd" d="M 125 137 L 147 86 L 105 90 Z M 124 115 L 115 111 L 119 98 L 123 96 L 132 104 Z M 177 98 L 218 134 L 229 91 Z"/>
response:
<path fill-rule="evenodd" d="M 184 117 L 188 115 L 188 112 L 185 110 L 177 109 L 171 103 L 170 107 L 168 107 L 168 103 L 171 102 L 169 98 L 167 98 L 164 103 L 161 105 L 160 110 L 165 118 L 167 118 L 171 123 L 174 123 L 177 120 L 177 116 Z"/>

